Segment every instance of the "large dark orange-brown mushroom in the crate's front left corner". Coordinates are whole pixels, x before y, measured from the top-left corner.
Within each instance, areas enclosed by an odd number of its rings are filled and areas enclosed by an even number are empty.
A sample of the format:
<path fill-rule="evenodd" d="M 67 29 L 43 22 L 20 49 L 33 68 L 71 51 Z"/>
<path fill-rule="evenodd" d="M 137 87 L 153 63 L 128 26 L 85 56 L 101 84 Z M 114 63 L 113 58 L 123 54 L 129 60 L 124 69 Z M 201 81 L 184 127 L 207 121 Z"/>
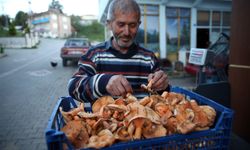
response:
<path fill-rule="evenodd" d="M 85 125 L 83 121 L 72 120 L 61 129 L 75 148 L 82 148 L 89 141 Z"/>

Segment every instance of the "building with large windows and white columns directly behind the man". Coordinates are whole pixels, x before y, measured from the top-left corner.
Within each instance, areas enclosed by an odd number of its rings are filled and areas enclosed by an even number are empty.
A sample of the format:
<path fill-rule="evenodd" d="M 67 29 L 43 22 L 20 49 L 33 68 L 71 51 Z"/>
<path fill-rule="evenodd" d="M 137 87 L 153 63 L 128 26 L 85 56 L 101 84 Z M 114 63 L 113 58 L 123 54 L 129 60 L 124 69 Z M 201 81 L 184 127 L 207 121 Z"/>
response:
<path fill-rule="evenodd" d="M 112 0 L 99 0 L 99 21 L 105 23 Z M 137 41 L 178 60 L 180 49 L 206 48 L 219 33 L 230 34 L 232 0 L 136 0 L 141 8 Z M 105 37 L 110 37 L 106 30 Z"/>

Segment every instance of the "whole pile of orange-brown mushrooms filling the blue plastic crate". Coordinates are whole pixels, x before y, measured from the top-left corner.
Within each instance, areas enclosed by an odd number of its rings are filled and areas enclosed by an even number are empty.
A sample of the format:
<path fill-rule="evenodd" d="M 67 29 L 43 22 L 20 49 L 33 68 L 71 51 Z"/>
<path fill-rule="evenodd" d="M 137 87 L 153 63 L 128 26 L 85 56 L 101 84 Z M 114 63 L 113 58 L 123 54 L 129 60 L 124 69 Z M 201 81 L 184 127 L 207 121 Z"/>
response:
<path fill-rule="evenodd" d="M 75 148 L 102 148 L 119 141 L 187 134 L 211 127 L 216 111 L 175 92 L 153 94 L 137 100 L 132 94 L 113 99 L 103 96 L 84 111 L 84 104 L 60 112 L 61 129 Z"/>

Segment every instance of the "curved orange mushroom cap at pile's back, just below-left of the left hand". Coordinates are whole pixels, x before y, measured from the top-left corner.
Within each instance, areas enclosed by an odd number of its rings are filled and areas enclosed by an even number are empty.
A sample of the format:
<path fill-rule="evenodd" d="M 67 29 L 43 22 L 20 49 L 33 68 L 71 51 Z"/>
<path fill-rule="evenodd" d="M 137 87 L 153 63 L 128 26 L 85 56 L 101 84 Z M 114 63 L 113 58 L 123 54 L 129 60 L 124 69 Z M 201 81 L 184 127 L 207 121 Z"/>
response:
<path fill-rule="evenodd" d="M 102 96 L 94 102 L 94 104 L 92 105 L 92 111 L 94 113 L 98 112 L 101 109 L 101 107 L 106 106 L 108 104 L 113 104 L 113 103 L 115 103 L 115 100 L 113 99 L 113 97 Z"/>

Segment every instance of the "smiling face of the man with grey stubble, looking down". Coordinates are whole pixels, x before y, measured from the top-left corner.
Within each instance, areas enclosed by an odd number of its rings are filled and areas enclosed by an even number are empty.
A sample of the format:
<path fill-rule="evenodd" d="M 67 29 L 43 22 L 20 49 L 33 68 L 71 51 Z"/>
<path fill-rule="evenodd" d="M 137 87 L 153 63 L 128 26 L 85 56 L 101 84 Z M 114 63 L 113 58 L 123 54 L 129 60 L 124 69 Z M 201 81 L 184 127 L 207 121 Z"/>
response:
<path fill-rule="evenodd" d="M 118 50 L 128 50 L 135 39 L 139 25 L 139 16 L 136 13 L 117 12 L 115 19 L 109 22 L 109 28 L 114 36 L 113 46 Z"/>

